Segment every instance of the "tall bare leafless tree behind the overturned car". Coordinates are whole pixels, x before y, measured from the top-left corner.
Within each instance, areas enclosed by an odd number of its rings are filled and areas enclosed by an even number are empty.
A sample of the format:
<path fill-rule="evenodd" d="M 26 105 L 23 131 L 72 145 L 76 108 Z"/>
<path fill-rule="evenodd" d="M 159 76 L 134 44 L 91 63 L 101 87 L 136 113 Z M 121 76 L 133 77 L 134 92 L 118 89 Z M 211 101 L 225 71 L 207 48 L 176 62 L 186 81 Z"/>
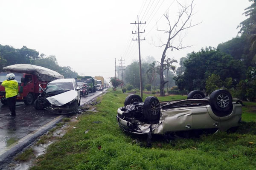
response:
<path fill-rule="evenodd" d="M 163 54 L 162 54 L 161 62 L 160 62 L 160 96 L 164 96 L 164 90 L 163 90 L 164 85 L 168 82 L 168 81 L 164 81 L 164 79 L 163 79 L 163 70 L 164 70 L 164 61 L 166 58 L 166 51 L 168 49 L 173 51 L 174 49 L 180 50 L 183 48 L 190 47 L 189 45 L 182 46 L 182 41 L 185 36 L 181 37 L 180 33 L 188 28 L 191 28 L 191 27 L 194 27 L 194 26 L 197 26 L 198 24 L 200 24 L 200 23 L 192 24 L 191 17 L 194 15 L 193 9 L 195 7 L 193 5 L 193 2 L 194 2 L 194 0 L 192 0 L 192 2 L 190 3 L 189 6 L 186 6 L 186 5 L 181 5 L 177 1 L 177 3 L 180 6 L 177 21 L 175 21 L 175 23 L 172 25 L 169 20 L 169 15 L 164 14 L 164 17 L 168 21 L 169 30 L 157 29 L 158 31 L 163 31 L 164 33 L 168 34 L 167 42 L 165 44 L 163 43 L 162 45 L 158 46 L 158 47 L 165 47 L 163 50 Z M 176 37 L 179 37 L 179 40 L 178 40 L 177 44 L 174 44 L 174 40 Z"/>

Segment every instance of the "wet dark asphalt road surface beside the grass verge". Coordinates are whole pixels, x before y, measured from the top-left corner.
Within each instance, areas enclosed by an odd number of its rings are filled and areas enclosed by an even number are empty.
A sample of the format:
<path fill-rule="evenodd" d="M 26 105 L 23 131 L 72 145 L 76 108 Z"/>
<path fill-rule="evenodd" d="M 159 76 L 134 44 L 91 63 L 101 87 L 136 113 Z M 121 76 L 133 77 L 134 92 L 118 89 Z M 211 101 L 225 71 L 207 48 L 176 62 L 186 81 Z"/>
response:
<path fill-rule="evenodd" d="M 97 91 L 81 96 L 81 105 L 101 93 Z M 33 105 L 25 105 L 23 102 L 16 103 L 15 117 L 6 116 L 9 113 L 8 106 L 0 103 L 0 151 L 59 116 L 46 110 L 35 110 Z"/>

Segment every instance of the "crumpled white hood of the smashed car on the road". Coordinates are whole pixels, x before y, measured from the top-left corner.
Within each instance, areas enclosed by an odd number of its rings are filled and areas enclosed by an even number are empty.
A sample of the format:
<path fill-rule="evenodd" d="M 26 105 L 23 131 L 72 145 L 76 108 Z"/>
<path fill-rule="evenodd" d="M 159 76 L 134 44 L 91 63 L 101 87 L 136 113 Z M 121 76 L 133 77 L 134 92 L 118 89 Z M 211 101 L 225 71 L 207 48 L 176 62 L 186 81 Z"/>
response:
<path fill-rule="evenodd" d="M 75 90 L 66 91 L 55 96 L 47 97 L 46 99 L 55 106 L 62 106 L 68 102 L 71 102 L 73 99 L 76 99 L 77 92 Z"/>

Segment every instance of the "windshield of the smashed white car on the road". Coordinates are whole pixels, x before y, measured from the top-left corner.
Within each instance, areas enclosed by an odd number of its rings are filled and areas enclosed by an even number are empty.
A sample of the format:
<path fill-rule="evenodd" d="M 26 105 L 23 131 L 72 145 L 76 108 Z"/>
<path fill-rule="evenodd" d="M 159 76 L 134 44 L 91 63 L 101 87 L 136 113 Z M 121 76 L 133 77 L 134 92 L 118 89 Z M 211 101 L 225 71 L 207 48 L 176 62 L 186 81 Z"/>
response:
<path fill-rule="evenodd" d="M 47 85 L 46 93 L 63 93 L 70 90 L 74 90 L 72 82 L 52 82 Z"/>

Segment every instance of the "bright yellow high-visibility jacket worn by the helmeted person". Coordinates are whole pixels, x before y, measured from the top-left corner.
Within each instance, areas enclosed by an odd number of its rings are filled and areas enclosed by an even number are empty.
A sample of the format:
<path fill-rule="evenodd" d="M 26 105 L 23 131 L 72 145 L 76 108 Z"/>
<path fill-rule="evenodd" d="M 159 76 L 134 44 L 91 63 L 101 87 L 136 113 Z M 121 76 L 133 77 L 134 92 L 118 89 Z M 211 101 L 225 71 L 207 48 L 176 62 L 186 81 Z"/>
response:
<path fill-rule="evenodd" d="M 6 98 L 17 96 L 19 93 L 19 85 L 16 80 L 5 80 L 2 82 L 2 86 L 6 91 Z"/>

